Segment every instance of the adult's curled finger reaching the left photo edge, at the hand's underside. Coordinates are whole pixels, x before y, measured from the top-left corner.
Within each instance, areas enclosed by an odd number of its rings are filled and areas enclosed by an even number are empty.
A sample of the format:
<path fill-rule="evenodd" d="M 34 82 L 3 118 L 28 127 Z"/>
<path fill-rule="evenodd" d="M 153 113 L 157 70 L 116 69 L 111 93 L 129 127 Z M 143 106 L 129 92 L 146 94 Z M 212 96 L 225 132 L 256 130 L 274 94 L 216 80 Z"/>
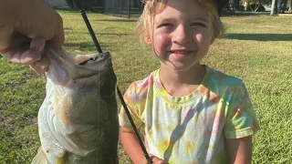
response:
<path fill-rule="evenodd" d="M 15 47 L 3 54 L 8 60 L 18 64 L 31 65 L 41 58 L 41 52 L 44 50 L 46 40 L 32 39 L 30 47 L 24 50 L 21 47 Z"/>

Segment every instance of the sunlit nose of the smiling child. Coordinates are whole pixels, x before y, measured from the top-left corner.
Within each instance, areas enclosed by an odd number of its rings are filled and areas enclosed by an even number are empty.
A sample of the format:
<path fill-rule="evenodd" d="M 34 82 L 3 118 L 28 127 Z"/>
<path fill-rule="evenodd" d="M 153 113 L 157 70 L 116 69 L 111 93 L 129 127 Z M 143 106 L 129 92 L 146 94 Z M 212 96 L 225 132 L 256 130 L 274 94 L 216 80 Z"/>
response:
<path fill-rule="evenodd" d="M 173 31 L 172 42 L 176 44 L 185 44 L 191 40 L 188 29 L 185 26 L 177 26 Z"/>

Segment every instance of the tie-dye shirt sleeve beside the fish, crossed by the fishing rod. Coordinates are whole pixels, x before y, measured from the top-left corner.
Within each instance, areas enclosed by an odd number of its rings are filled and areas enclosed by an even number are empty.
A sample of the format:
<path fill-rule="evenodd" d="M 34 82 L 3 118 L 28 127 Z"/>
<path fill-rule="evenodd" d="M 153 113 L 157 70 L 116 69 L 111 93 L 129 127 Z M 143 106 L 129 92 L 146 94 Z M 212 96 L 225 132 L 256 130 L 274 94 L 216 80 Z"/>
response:
<path fill-rule="evenodd" d="M 124 94 L 124 100 L 127 104 L 127 108 L 130 112 L 130 117 L 133 119 L 133 122 L 136 128 L 141 128 L 143 122 L 141 121 L 141 101 L 140 94 L 137 92 L 135 83 L 131 84 L 130 87 L 126 90 Z M 119 122 L 120 127 L 122 128 L 132 128 L 130 120 L 127 116 L 125 108 L 121 107 L 119 111 Z"/>

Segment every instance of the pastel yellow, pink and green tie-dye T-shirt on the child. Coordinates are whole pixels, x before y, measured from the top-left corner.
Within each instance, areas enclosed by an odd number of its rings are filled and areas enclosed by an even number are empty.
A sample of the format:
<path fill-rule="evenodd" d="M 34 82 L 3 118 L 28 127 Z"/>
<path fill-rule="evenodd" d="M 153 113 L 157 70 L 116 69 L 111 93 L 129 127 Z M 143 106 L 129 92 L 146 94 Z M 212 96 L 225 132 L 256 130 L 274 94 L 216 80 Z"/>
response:
<path fill-rule="evenodd" d="M 227 163 L 224 138 L 244 138 L 259 129 L 242 80 L 210 67 L 188 96 L 168 94 L 158 69 L 133 82 L 124 98 L 137 128 L 145 128 L 148 152 L 169 163 Z M 131 127 L 123 108 L 119 118 L 121 127 Z"/>

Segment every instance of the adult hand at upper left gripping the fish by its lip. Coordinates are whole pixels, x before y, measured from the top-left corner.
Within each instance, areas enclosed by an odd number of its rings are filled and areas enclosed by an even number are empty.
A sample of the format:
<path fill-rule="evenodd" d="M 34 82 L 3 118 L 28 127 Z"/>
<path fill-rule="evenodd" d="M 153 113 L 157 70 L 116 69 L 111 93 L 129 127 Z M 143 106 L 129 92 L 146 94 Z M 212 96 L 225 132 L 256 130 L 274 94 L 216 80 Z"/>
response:
<path fill-rule="evenodd" d="M 62 18 L 47 1 L 0 1 L 0 54 L 8 60 L 42 73 L 48 67 L 45 45 L 58 50 L 63 43 Z"/>

